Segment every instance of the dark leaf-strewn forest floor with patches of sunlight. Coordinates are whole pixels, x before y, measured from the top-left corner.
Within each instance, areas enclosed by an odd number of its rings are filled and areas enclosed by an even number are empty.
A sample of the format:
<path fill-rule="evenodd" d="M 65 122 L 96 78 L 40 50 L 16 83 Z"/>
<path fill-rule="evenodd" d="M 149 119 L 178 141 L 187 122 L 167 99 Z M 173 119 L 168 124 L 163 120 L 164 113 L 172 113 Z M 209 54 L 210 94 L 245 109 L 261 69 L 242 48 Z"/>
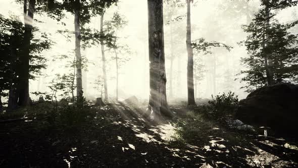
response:
<path fill-rule="evenodd" d="M 92 106 L 94 116 L 76 128 L 45 121 L 0 122 L 0 167 L 297 167 L 296 142 L 250 135 L 213 122 L 186 142 L 175 142 L 175 124 L 195 120 L 189 108 L 171 105 L 176 117 L 153 124 L 145 109 L 114 103 Z M 47 126 L 46 126 L 47 125 Z"/>

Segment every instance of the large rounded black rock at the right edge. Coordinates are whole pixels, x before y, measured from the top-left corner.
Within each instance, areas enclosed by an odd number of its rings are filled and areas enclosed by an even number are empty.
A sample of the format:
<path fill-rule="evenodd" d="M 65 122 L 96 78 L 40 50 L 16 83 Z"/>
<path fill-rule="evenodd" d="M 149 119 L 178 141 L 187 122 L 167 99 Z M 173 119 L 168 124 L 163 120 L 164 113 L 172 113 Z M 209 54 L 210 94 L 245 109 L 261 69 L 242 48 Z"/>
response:
<path fill-rule="evenodd" d="M 276 133 L 297 134 L 298 85 L 266 86 L 239 101 L 236 118 L 244 123 L 270 127 Z"/>

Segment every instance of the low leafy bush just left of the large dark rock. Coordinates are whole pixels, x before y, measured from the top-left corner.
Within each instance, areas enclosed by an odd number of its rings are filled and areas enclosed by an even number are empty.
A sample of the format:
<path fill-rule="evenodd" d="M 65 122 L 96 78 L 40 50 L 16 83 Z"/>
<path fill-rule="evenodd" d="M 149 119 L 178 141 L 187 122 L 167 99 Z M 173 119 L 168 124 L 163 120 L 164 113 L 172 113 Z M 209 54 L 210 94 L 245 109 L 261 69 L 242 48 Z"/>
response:
<path fill-rule="evenodd" d="M 232 114 L 238 104 L 238 96 L 231 91 L 211 97 L 209 104 L 201 110 L 208 118 L 221 119 L 225 115 Z"/>

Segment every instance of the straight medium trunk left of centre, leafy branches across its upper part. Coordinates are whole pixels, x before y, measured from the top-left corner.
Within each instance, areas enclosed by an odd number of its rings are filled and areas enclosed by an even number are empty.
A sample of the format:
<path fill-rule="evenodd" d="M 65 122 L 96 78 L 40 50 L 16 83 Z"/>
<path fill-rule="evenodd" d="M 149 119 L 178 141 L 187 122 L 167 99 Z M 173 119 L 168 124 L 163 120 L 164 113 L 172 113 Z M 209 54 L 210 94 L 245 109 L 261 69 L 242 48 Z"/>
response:
<path fill-rule="evenodd" d="M 75 0 L 74 25 L 75 25 L 75 55 L 76 55 L 76 78 L 77 98 L 83 94 L 82 88 L 82 58 L 81 58 L 81 30 L 80 30 L 80 0 Z M 78 99 L 77 99 L 78 101 Z"/>

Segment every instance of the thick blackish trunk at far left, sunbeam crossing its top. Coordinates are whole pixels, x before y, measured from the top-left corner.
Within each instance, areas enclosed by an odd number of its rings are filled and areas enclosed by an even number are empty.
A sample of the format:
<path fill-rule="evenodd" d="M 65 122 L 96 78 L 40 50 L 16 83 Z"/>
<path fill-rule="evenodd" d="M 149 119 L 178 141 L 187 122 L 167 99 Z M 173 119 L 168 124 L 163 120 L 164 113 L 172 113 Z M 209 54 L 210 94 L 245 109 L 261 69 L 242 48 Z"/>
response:
<path fill-rule="evenodd" d="M 29 55 L 30 55 L 30 41 L 32 38 L 32 24 L 35 10 L 35 0 L 29 0 L 29 8 L 27 13 L 27 0 L 24 0 L 24 51 L 20 57 L 21 67 L 19 76 L 19 102 L 20 106 L 29 105 Z"/>

